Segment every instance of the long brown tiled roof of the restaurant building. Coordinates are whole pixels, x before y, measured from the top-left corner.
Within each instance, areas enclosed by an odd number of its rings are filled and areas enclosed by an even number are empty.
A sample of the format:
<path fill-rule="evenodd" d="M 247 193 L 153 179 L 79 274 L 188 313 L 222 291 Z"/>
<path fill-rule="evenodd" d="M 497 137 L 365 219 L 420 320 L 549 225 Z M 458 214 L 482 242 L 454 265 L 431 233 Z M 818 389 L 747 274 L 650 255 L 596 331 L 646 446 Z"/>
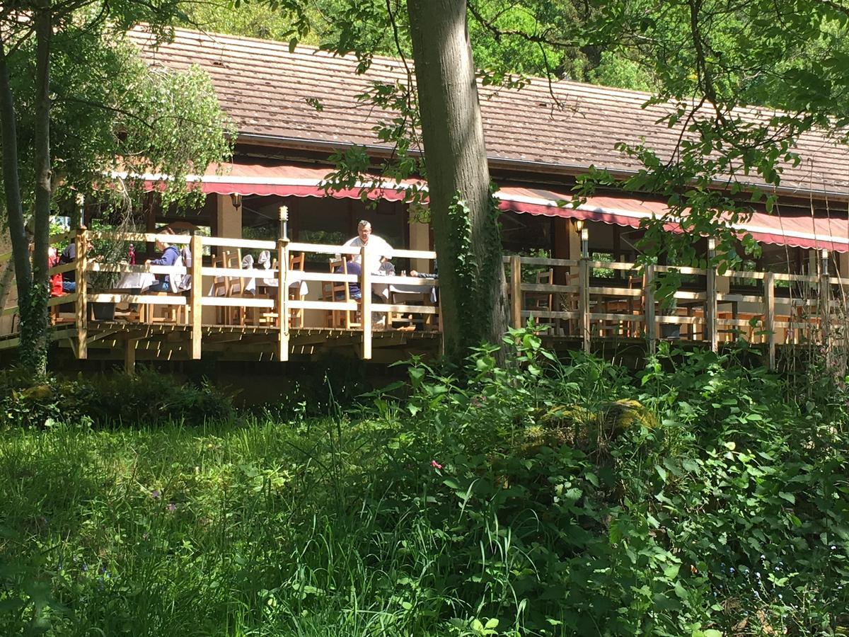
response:
<path fill-rule="evenodd" d="M 183 68 L 196 64 L 211 76 L 222 108 L 250 138 L 280 138 L 281 146 L 345 144 L 386 146 L 373 127 L 388 118 L 384 111 L 357 102 L 371 82 L 406 82 L 402 61 L 375 57 L 367 73 L 357 75 L 357 60 L 283 42 L 177 30 L 173 42 L 157 50 L 133 31 L 150 63 Z M 554 97 L 556 97 L 556 100 Z M 486 150 L 491 161 L 533 172 L 582 172 L 594 165 L 628 172 L 639 166 L 614 149 L 616 142 L 637 143 L 666 157 L 680 129 L 655 124 L 666 105 L 642 108 L 648 93 L 577 82 L 532 79 L 521 90 L 481 87 Z M 316 110 L 314 100 L 322 106 Z M 679 125 L 680 126 L 680 125 Z M 797 151 L 802 163 L 787 167 L 784 189 L 849 194 L 849 149 L 819 132 L 808 132 Z M 756 178 L 749 178 L 756 183 Z"/>

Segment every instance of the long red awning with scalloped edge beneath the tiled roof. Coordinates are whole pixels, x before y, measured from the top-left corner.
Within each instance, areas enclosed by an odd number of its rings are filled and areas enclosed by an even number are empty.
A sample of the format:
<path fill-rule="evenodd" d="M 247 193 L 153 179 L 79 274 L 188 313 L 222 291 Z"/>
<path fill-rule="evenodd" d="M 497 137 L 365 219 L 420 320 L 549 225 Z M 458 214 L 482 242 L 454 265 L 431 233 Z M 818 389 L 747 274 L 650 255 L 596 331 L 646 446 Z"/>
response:
<path fill-rule="evenodd" d="M 236 162 L 211 166 L 203 176 L 190 177 L 200 181 L 205 193 L 214 194 L 276 194 L 295 197 L 326 197 L 360 199 L 363 187 L 372 188 L 368 199 L 400 201 L 409 188 L 426 188 L 417 179 L 396 182 L 374 178 L 353 184 L 351 188 L 325 191 L 323 183 L 332 172 L 326 167 L 295 166 L 283 163 Z M 154 175 L 146 175 L 150 187 L 155 188 Z M 571 193 L 551 189 L 503 186 L 495 194 L 498 207 L 503 211 L 520 212 L 546 217 L 567 217 L 638 228 L 645 218 L 663 217 L 668 208 L 661 201 L 641 200 L 626 195 L 592 196 L 581 206 L 573 208 Z M 756 212 L 747 223 L 735 225 L 741 233 L 749 233 L 761 243 L 792 245 L 800 248 L 824 248 L 829 251 L 849 251 L 849 220 L 846 218 L 782 217 Z M 670 223 L 667 229 L 678 227 Z"/>

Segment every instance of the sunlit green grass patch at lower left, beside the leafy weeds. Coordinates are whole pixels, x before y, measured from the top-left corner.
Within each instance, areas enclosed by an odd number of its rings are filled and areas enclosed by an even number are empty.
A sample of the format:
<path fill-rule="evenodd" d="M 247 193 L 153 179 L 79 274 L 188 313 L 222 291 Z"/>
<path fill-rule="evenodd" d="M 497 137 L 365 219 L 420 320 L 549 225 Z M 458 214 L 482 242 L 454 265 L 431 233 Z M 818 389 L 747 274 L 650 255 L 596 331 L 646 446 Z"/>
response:
<path fill-rule="evenodd" d="M 351 488 L 381 436 L 321 420 L 7 431 L 0 632 L 421 634 L 374 595 L 398 538 L 358 553 L 374 514 Z"/>

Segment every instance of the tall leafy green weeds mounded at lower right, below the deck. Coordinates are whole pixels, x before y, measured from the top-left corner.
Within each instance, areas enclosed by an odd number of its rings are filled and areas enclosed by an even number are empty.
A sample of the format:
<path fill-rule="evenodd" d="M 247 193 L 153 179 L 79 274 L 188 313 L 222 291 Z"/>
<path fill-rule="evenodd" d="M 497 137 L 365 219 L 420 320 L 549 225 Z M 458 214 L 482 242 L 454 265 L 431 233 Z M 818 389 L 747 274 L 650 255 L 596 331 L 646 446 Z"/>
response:
<path fill-rule="evenodd" d="M 843 411 L 795 403 L 734 353 L 661 347 L 631 375 L 561 364 L 537 329 L 505 337 L 515 364 L 491 346 L 462 377 L 418 361 L 412 394 L 381 398 L 415 422 L 389 445 L 392 506 L 445 556 L 429 577 L 456 634 L 846 625 Z"/>

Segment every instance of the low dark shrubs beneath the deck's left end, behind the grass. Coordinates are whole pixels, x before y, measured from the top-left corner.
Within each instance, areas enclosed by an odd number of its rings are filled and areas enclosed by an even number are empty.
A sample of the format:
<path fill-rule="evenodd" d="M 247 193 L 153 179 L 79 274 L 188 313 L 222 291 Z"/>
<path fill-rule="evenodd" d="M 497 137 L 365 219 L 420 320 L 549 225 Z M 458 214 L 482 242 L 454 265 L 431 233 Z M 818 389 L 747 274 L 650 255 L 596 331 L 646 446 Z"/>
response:
<path fill-rule="evenodd" d="M 233 403 L 207 382 L 192 386 L 143 371 L 93 380 L 48 378 L 32 384 L 20 371 L 0 375 L 3 427 L 44 427 L 87 421 L 95 426 L 233 420 Z"/>

